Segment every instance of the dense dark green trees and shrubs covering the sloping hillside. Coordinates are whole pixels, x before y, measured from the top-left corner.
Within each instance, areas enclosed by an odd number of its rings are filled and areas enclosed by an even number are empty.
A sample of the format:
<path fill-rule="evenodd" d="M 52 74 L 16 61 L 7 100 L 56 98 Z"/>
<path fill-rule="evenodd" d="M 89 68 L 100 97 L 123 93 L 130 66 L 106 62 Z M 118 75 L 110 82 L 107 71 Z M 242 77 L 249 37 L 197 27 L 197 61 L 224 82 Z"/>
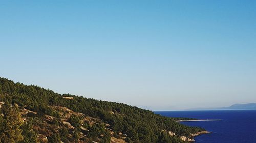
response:
<path fill-rule="evenodd" d="M 14 83 L 1 77 L 0 101 L 5 103 L 1 108 L 0 142 L 42 142 L 36 137 L 38 138 L 38 134 L 45 134 L 48 142 L 110 142 L 113 136 L 123 138 L 126 142 L 168 143 L 183 142 L 179 136 L 190 136 L 191 133 L 203 130 L 184 126 L 175 122 L 175 119 L 156 115 L 150 110 L 70 94 L 60 95 L 35 85 Z M 61 121 L 65 112 L 60 112 L 53 106 L 67 107 L 84 115 L 71 115 L 68 121 L 74 128 L 70 129 Z M 21 116 L 23 109 L 36 114 Z M 48 116 L 53 119 L 48 120 Z M 96 118 L 101 122 L 93 125 L 81 122 L 86 117 Z M 22 120 L 24 118 L 25 121 Z M 81 130 L 81 126 L 86 130 Z M 39 128 L 44 128 L 45 132 Z M 168 131 L 175 132 L 176 136 L 170 136 Z M 82 139 L 81 134 L 86 138 Z"/>

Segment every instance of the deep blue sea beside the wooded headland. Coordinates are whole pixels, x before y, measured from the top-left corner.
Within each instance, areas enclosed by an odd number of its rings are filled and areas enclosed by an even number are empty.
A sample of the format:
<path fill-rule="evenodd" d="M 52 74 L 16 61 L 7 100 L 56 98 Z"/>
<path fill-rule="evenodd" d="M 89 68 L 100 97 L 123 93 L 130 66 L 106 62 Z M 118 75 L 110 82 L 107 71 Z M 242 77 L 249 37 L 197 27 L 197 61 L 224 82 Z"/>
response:
<path fill-rule="evenodd" d="M 256 110 L 155 111 L 166 117 L 222 119 L 222 121 L 181 122 L 212 133 L 195 137 L 198 143 L 256 143 Z"/>

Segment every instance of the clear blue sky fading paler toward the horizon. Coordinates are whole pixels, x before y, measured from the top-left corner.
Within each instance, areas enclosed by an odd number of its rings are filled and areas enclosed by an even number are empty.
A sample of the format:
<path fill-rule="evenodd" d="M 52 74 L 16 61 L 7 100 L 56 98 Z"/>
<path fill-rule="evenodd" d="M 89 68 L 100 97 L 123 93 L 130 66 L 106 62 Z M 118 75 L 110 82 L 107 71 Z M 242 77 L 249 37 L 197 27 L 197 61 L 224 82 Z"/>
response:
<path fill-rule="evenodd" d="M 152 110 L 256 102 L 256 1 L 0 1 L 0 76 Z"/>

